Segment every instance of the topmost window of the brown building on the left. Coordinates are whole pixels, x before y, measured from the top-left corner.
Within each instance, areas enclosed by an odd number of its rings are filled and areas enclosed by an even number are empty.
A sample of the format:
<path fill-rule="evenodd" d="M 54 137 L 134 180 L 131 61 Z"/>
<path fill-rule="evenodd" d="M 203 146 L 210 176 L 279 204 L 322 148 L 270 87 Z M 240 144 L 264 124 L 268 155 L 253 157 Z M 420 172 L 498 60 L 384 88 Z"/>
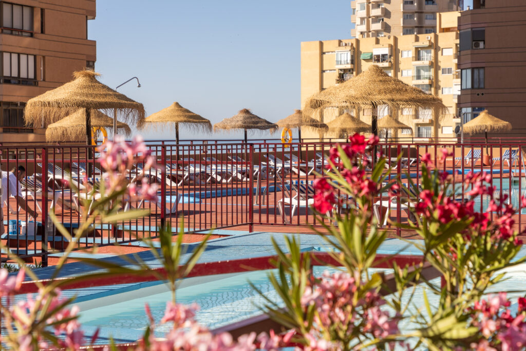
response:
<path fill-rule="evenodd" d="M 2 3 L 2 33 L 33 36 L 33 7 Z"/>

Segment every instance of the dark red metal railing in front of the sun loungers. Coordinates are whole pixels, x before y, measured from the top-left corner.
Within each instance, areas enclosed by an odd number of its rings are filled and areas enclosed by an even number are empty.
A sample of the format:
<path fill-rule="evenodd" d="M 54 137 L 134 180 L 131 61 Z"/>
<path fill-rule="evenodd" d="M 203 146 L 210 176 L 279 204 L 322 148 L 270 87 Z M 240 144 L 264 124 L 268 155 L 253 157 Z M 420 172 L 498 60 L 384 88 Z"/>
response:
<path fill-rule="evenodd" d="M 285 146 L 282 143 L 208 143 L 173 144 L 159 142 L 148 144 L 157 156 L 161 171 L 147 171 L 150 183 L 158 183 L 157 202 L 134 202 L 125 208 L 148 208 L 151 215 L 116 225 L 105 224 L 96 218 L 92 231 L 76 243 L 78 249 L 94 245 L 132 243 L 143 237 L 156 237 L 158 227 L 170 223 L 174 230 L 184 224 L 185 233 L 206 231 L 213 228 L 239 227 L 253 230 L 255 226 L 317 226 L 312 212 L 313 180 L 328 164 L 331 147 L 337 142 L 304 142 Z M 74 235 L 81 216 L 82 201 L 86 190 L 80 194 L 70 190 L 73 182 L 82 185 L 89 175 L 90 182 L 98 182 L 101 176 L 97 153 L 92 146 L 82 145 L 35 145 L 1 146 L 3 171 L 23 166 L 27 170 L 26 186 L 22 195 L 27 204 L 36 210 L 38 217 L 31 221 L 27 211 L 18 208 L 13 198 L 8 203 L 13 212 L 4 206 L 5 234 L 2 242 L 12 253 L 27 260 L 42 258 L 47 263 L 48 249 L 64 250 L 67 239 L 51 225 L 48 213 L 54 205 L 58 220 L 70 235 Z M 447 148 L 454 156 L 440 163 L 441 148 Z M 421 162 L 425 153 L 434 160 L 433 167 L 452 175 L 453 184 L 463 183 L 469 171 L 492 174 L 492 183 L 498 195 L 508 194 L 511 203 L 519 209 L 518 228 L 522 228 L 522 203 L 524 192 L 523 144 L 484 143 L 382 143 L 378 149 L 388 157 L 392 166 L 390 177 L 407 183 L 412 179 L 420 183 Z M 89 155 L 95 157 L 87 157 Z M 401 159 L 397 160 L 397 156 Z M 487 157 L 483 157 L 488 155 Z M 484 161 L 490 162 L 483 165 Z M 69 174 L 71 172 L 71 178 Z M 387 169 L 386 169 L 387 171 Z M 128 174 L 130 182 L 138 182 L 140 165 Z M 4 191 L 11 192 L 7 184 Z M 84 194 L 84 195 L 83 195 Z M 16 195 L 16 191 L 15 191 Z M 18 194 L 21 195 L 21 194 Z M 456 194 L 464 197 L 461 192 Z M 89 204 L 88 204 L 89 206 Z M 485 209 L 484 202 L 478 204 Z M 80 207 L 80 208 L 79 208 Z M 330 215 L 330 214 L 329 214 Z M 408 220 L 407 206 L 401 203 L 400 194 L 391 199 L 380 194 L 375 200 L 375 215 L 382 226 L 391 228 L 390 220 Z M 495 213 L 493 216 L 500 214 Z M 11 227 L 9 221 L 19 223 Z M 328 223 L 328 217 L 323 218 Z M 394 228 L 393 228 L 394 229 Z M 282 229 L 289 230 L 289 229 Z M 398 235 L 404 232 L 397 229 Z M 2 261 L 6 252 L 0 253 Z"/>

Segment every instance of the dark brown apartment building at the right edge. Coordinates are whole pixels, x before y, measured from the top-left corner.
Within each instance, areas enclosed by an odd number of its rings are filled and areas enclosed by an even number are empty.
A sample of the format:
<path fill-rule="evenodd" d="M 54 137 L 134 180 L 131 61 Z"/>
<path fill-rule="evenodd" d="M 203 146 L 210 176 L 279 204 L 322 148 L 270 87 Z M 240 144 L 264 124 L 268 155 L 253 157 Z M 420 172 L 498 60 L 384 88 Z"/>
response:
<path fill-rule="evenodd" d="M 474 0 L 459 18 L 458 107 L 464 121 L 484 109 L 513 126 L 502 136 L 526 133 L 526 2 Z"/>

